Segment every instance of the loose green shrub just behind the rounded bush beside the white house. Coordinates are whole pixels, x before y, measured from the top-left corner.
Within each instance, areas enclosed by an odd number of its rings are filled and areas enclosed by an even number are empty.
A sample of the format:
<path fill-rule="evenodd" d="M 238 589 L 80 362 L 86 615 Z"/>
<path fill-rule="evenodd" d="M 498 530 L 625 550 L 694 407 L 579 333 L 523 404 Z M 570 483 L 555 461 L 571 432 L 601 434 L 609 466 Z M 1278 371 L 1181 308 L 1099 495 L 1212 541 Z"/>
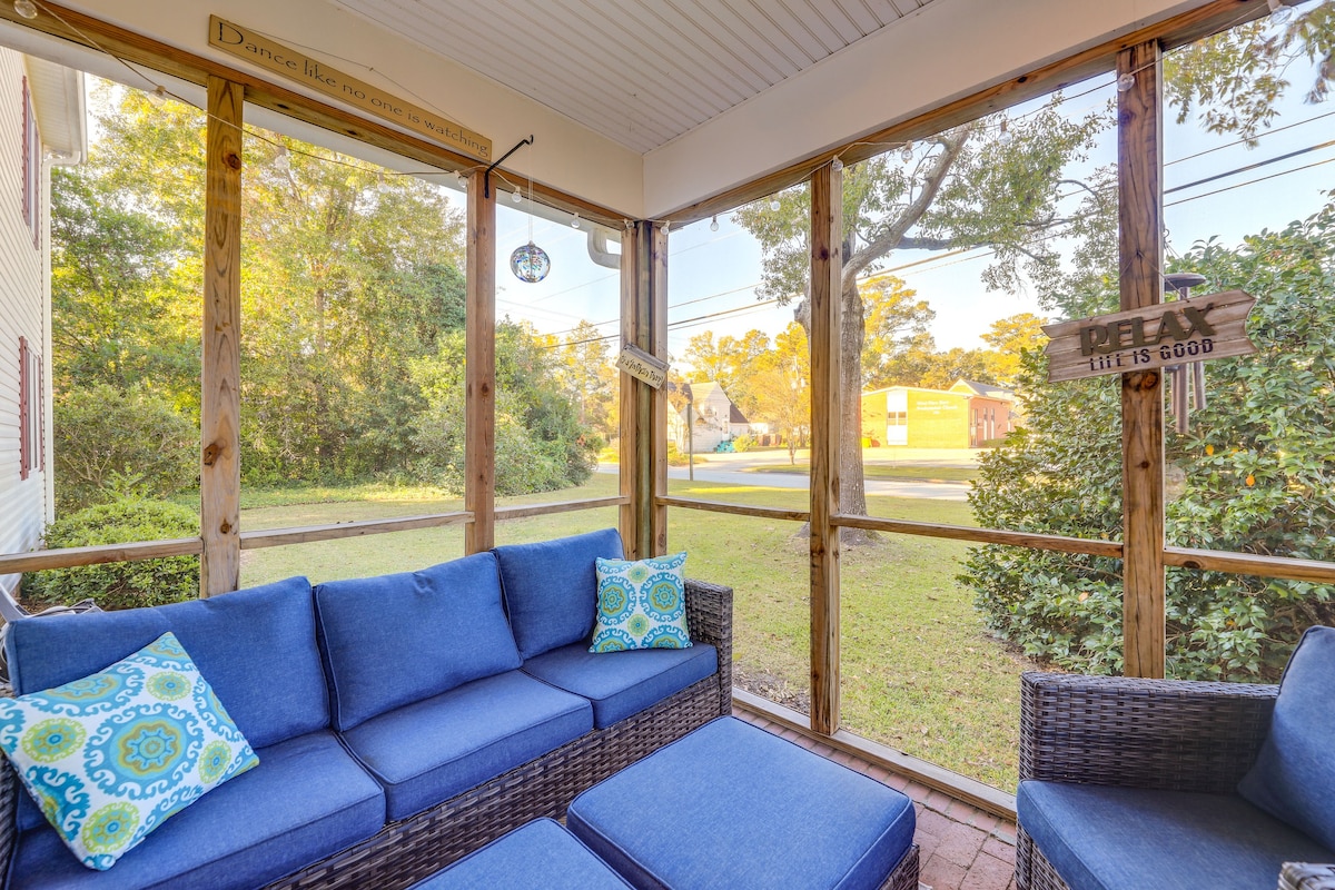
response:
<path fill-rule="evenodd" d="M 199 478 L 199 428 L 148 392 L 105 383 L 55 406 L 56 507 L 117 498 L 170 498 Z"/>

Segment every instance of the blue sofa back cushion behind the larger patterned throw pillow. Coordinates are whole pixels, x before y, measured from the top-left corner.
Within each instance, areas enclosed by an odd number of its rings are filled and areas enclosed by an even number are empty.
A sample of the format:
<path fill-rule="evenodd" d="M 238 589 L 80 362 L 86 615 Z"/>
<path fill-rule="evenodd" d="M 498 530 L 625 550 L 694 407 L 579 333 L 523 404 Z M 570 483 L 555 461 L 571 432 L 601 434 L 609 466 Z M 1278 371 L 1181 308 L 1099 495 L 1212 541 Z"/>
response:
<path fill-rule="evenodd" d="M 13 622 L 5 654 L 15 694 L 100 671 L 167 631 L 254 747 L 328 727 L 328 689 L 304 578 L 152 608 Z"/>

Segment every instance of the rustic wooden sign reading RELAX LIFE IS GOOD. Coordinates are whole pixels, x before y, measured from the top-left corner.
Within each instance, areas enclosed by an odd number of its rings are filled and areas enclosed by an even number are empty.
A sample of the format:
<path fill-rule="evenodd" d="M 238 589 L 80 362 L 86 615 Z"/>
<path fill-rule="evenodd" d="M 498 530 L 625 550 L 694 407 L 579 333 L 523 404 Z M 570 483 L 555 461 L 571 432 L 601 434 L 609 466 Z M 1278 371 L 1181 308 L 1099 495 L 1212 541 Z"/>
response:
<path fill-rule="evenodd" d="M 1044 324 L 1048 380 L 1147 371 L 1183 362 L 1224 359 L 1256 351 L 1247 314 L 1256 298 L 1224 291 L 1092 319 Z"/>

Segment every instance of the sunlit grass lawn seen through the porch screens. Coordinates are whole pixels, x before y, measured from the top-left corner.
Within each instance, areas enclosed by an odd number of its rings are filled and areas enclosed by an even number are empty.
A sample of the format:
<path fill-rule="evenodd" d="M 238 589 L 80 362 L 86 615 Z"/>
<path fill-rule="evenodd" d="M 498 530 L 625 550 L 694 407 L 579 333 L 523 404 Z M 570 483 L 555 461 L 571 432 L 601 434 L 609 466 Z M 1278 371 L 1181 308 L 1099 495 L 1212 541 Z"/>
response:
<path fill-rule="evenodd" d="M 804 490 L 670 480 L 677 496 L 805 508 Z M 510 498 L 541 503 L 617 492 L 617 476 L 595 474 L 586 486 Z M 371 516 L 446 512 L 461 507 L 425 490 L 363 487 L 266 492 L 247 500 L 243 528 L 322 524 Z M 973 524 L 968 506 L 912 498 L 868 498 L 872 515 Z M 617 523 L 614 507 L 497 524 L 498 543 L 543 540 Z M 668 514 L 669 547 L 689 554 L 688 574 L 729 584 L 734 599 L 734 667 L 741 683 L 808 710 L 808 552 L 801 523 L 698 510 Z M 842 723 L 1004 790 L 1015 789 L 1019 673 L 1023 659 L 992 639 L 955 580 L 967 544 L 884 535 L 845 550 L 841 571 Z M 463 528 L 368 535 L 335 542 L 248 550 L 243 583 L 290 575 L 312 582 L 407 571 L 463 554 Z"/>

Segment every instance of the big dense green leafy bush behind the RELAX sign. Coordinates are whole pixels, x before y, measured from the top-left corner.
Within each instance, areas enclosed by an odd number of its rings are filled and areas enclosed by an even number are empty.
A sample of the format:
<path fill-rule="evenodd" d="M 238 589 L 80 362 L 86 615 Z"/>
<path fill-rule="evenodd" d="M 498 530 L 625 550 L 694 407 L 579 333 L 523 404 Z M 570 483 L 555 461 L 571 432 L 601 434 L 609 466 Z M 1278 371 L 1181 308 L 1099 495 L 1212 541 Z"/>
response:
<path fill-rule="evenodd" d="M 1335 560 L 1335 201 L 1236 248 L 1203 242 L 1175 266 L 1258 298 L 1259 355 L 1210 363 L 1210 400 L 1165 456 L 1183 472 L 1165 510 L 1177 546 Z M 1116 376 L 1049 384 L 1027 352 L 1027 427 L 983 459 L 969 500 L 995 528 L 1112 538 L 1121 523 Z M 976 547 L 961 580 L 1027 654 L 1085 673 L 1121 669 L 1117 560 Z M 1168 673 L 1275 682 L 1300 632 L 1335 623 L 1335 586 L 1212 571 L 1167 578 Z"/>

